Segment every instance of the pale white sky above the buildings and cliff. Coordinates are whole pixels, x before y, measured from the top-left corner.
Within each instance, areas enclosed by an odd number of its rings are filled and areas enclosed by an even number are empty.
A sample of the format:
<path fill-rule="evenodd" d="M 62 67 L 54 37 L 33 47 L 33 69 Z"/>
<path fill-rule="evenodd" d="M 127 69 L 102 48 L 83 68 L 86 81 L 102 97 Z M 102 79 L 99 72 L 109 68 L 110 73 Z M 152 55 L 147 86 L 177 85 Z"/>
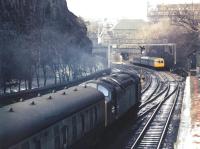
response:
<path fill-rule="evenodd" d="M 89 19 L 146 19 L 147 3 L 200 3 L 200 0 L 67 0 L 69 10 Z"/>

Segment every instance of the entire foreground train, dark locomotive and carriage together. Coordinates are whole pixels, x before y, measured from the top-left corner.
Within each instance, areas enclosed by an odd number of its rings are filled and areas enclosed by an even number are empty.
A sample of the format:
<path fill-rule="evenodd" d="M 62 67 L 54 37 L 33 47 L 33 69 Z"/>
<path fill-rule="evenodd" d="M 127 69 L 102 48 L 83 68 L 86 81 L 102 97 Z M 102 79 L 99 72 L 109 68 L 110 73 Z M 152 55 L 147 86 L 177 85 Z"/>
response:
<path fill-rule="evenodd" d="M 140 79 L 127 71 L 2 107 L 0 149 L 73 148 L 136 111 L 140 99 Z"/>

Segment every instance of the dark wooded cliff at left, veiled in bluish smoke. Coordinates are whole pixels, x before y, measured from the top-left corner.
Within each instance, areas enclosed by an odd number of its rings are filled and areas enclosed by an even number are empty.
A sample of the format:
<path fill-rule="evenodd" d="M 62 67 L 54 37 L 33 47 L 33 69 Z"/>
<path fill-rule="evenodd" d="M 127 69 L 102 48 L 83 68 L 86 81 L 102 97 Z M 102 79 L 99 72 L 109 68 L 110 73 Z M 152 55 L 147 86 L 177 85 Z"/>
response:
<path fill-rule="evenodd" d="M 48 75 L 54 75 L 56 82 L 62 73 L 60 82 L 65 81 L 66 68 L 78 71 L 75 63 L 91 50 L 86 26 L 68 10 L 66 0 L 0 0 L 0 88 L 4 92 L 13 80 L 19 88 L 21 80 L 27 80 L 29 89 L 35 77 L 38 87 L 39 78 L 44 77 L 46 85 Z"/>

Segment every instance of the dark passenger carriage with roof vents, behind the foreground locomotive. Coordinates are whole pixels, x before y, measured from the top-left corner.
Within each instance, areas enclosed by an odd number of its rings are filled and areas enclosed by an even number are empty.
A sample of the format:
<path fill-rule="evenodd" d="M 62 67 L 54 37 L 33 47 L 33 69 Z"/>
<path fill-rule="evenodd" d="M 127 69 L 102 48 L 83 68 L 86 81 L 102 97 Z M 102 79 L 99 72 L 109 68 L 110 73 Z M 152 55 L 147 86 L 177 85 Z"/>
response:
<path fill-rule="evenodd" d="M 72 88 L 11 107 L 0 109 L 0 149 L 64 149 L 104 129 L 104 96 L 91 87 Z"/>

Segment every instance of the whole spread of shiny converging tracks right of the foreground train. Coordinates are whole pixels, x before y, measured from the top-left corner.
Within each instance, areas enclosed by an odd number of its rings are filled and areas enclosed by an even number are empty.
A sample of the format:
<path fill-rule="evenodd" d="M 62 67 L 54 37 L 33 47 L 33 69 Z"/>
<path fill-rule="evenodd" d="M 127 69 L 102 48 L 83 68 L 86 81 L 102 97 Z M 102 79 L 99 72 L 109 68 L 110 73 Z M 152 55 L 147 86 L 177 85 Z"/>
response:
<path fill-rule="evenodd" d="M 138 72 L 140 71 L 140 68 L 135 69 L 135 67 L 133 68 L 130 65 L 123 66 L 123 68 L 128 70 L 138 69 Z M 165 144 L 165 135 L 166 133 L 166 136 L 169 135 L 168 125 L 169 123 L 170 126 L 173 125 L 173 121 L 170 121 L 174 111 L 172 107 L 176 106 L 177 100 L 178 102 L 181 100 L 179 94 L 180 91 L 182 93 L 182 88 L 179 87 L 179 84 L 181 86 L 182 83 L 179 83 L 181 81 L 177 80 L 176 76 L 168 72 L 156 72 L 149 69 L 144 69 L 144 72 L 147 75 L 149 74 L 149 78 L 145 76 L 145 81 L 147 81 L 147 83 L 144 85 L 145 87 L 143 90 L 147 86 L 149 86 L 149 88 L 142 94 L 143 99 L 139 106 L 137 119 L 129 120 L 129 124 L 126 125 L 126 128 L 120 130 L 118 133 L 119 136 L 115 134 L 115 136 L 113 136 L 114 141 L 109 141 L 112 143 L 108 145 L 109 147 L 104 146 L 104 148 L 154 149 L 161 148 L 162 145 Z M 153 95 L 148 98 L 153 90 Z M 175 111 L 177 111 L 177 109 Z M 116 129 L 116 131 L 118 130 L 119 129 Z M 171 142 L 173 141 L 171 140 Z M 166 145 L 164 146 L 166 147 Z"/>

